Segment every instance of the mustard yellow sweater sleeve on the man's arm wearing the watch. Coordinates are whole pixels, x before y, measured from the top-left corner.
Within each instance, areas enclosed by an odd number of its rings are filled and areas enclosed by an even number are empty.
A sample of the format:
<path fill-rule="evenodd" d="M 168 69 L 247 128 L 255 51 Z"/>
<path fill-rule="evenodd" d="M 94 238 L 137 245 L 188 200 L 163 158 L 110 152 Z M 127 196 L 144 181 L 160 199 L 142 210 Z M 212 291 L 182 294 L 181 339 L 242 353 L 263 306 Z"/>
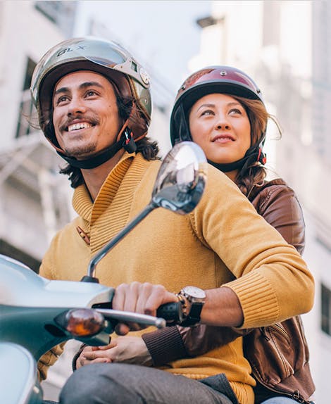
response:
<path fill-rule="evenodd" d="M 223 177 L 223 188 L 216 176 Z M 304 260 L 213 167 L 191 219 L 201 242 L 216 251 L 235 276 L 223 286 L 239 298 L 242 328 L 263 327 L 311 310 L 314 283 Z"/>

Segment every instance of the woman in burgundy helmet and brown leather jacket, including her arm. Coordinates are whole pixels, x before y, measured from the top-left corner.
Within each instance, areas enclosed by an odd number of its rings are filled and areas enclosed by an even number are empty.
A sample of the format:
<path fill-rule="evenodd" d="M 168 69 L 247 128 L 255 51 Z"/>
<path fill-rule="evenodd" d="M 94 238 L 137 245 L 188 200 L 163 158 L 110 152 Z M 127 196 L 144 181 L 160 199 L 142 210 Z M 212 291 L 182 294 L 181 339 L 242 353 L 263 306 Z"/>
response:
<path fill-rule="evenodd" d="M 199 144 L 209 163 L 225 172 L 258 213 L 301 253 L 304 220 L 296 196 L 282 179 L 265 181 L 266 156 L 262 149 L 268 118 L 261 91 L 244 72 L 225 66 L 205 68 L 191 75 L 178 91 L 170 135 L 173 144 L 185 140 Z M 130 362 L 162 366 L 204 354 L 242 334 L 206 325 L 169 327 L 144 334 L 146 345 L 140 337 L 125 336 L 106 347 L 85 347 L 73 364 Z M 266 404 L 308 403 L 315 387 L 299 317 L 245 334 L 245 355 L 257 381 L 256 403 L 268 398 L 272 401 Z"/>

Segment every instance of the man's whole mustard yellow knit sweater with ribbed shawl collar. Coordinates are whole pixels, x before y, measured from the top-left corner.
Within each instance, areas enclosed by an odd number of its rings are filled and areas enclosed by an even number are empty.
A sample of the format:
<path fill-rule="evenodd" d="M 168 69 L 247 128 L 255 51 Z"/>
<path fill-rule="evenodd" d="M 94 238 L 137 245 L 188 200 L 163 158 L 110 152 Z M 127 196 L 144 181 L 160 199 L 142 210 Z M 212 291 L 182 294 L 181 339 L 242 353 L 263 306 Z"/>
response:
<path fill-rule="evenodd" d="M 94 203 L 84 185 L 75 189 L 73 207 L 79 216 L 56 234 L 40 274 L 80 280 L 94 253 L 149 202 L 159 166 L 159 161 L 126 153 Z M 77 226 L 89 235 L 89 246 Z M 108 286 L 151 282 L 175 292 L 188 284 L 203 289 L 226 284 L 242 305 L 243 328 L 305 313 L 313 304 L 313 279 L 299 253 L 211 166 L 205 194 L 192 213 L 154 210 L 101 260 L 96 277 Z M 172 362 L 164 370 L 194 379 L 224 372 L 239 403 L 254 403 L 255 382 L 241 338 L 199 357 Z"/>

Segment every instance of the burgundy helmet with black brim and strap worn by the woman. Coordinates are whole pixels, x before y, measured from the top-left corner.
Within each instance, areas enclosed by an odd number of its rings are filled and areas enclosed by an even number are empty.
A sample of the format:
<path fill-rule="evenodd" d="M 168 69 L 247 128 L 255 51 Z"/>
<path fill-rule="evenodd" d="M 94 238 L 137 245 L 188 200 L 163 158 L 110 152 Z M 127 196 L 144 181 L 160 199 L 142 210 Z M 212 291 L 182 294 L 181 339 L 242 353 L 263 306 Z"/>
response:
<path fill-rule="evenodd" d="M 175 105 L 170 117 L 170 138 L 171 143 L 178 141 L 192 141 L 189 131 L 189 111 L 193 104 L 207 94 L 221 93 L 234 96 L 241 96 L 247 99 L 256 99 L 263 103 L 261 90 L 254 80 L 246 73 L 230 66 L 210 66 L 190 75 L 177 92 Z M 263 103 L 264 105 L 264 103 Z M 262 147 L 266 133 L 261 133 L 258 144 L 251 145 L 243 159 L 235 163 L 215 165 L 222 171 L 232 171 L 247 166 L 254 160 L 266 163 L 266 156 Z"/>

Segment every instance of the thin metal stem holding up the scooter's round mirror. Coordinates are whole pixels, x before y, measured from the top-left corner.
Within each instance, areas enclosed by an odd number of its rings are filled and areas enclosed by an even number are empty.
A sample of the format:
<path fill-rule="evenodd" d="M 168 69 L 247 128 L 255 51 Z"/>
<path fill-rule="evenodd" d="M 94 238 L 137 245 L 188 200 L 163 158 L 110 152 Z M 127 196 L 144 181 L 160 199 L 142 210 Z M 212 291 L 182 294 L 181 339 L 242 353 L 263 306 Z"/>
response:
<path fill-rule="evenodd" d="M 111 241 L 109 241 L 106 246 L 101 248 L 99 253 L 96 253 L 92 260 L 89 261 L 89 267 L 87 268 L 87 275 L 89 277 L 94 277 L 95 270 L 96 270 L 96 265 L 99 263 L 99 261 L 104 258 L 106 253 L 111 250 L 118 242 L 123 239 L 124 236 L 127 235 L 127 233 L 131 232 L 131 230 L 138 225 L 139 222 L 141 222 L 144 217 L 149 215 L 152 210 L 155 208 L 158 208 L 158 206 L 153 202 L 149 202 L 149 204 L 140 212 L 134 219 L 131 220 Z"/>

